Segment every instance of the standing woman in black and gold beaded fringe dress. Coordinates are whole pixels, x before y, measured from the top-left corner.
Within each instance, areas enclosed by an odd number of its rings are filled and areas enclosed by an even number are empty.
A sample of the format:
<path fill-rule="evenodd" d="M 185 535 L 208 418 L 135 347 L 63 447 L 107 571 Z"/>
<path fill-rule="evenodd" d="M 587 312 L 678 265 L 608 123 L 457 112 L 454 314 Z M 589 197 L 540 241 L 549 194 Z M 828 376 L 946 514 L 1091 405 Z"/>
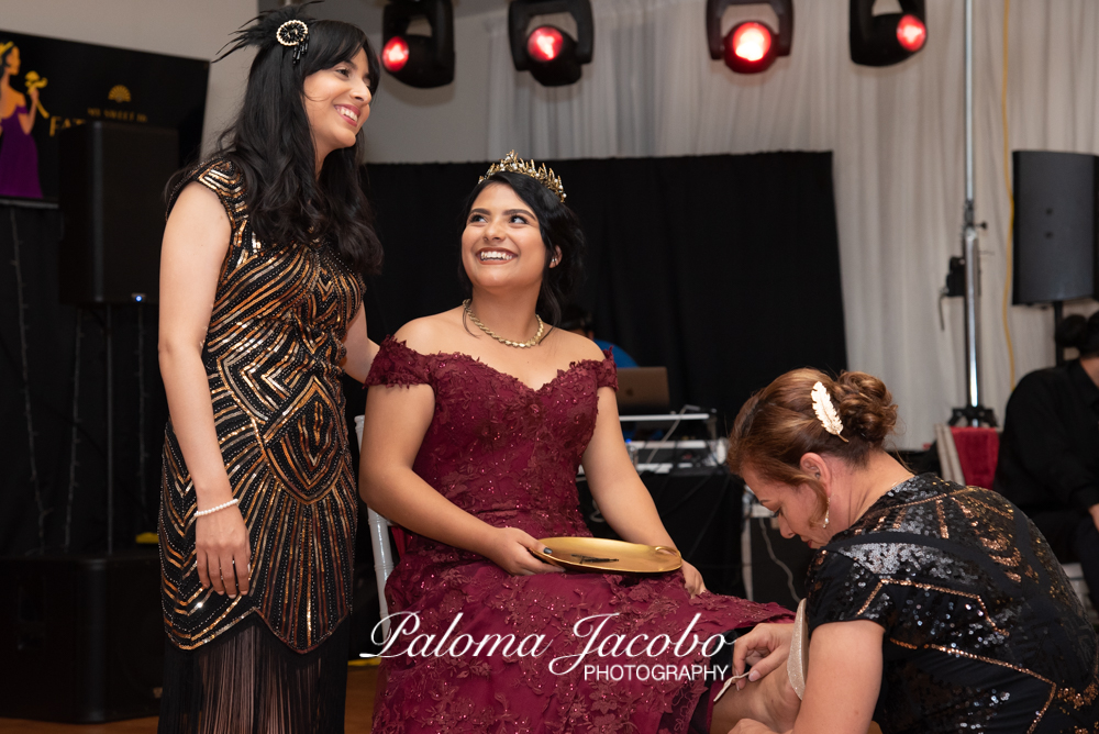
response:
<path fill-rule="evenodd" d="M 160 732 L 342 732 L 356 526 L 340 376 L 364 379 L 381 252 L 357 148 L 357 27 L 262 15 L 225 146 L 174 181 L 160 260 L 171 420 Z"/>

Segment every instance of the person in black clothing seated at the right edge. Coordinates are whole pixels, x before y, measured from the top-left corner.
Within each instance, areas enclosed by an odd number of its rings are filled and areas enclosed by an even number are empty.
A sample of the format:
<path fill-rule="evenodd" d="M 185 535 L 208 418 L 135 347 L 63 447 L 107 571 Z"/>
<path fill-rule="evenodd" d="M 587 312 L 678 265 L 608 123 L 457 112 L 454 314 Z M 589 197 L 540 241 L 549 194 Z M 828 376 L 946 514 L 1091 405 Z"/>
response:
<path fill-rule="evenodd" d="M 1099 312 L 1068 316 L 1056 341 L 1080 356 L 1019 381 L 992 489 L 1034 521 L 1062 563 L 1080 564 L 1099 609 Z"/>

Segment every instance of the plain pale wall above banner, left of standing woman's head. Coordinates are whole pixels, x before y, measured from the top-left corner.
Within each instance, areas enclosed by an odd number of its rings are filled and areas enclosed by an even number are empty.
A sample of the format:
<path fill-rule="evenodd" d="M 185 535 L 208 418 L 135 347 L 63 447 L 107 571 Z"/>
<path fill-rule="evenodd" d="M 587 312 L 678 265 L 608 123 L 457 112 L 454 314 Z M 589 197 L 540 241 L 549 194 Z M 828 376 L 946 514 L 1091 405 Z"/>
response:
<path fill-rule="evenodd" d="M 255 15 L 256 0 L 0 0 L 4 31 L 202 59 Z M 236 111 L 251 60 L 242 52 L 210 67 L 203 151 Z"/>

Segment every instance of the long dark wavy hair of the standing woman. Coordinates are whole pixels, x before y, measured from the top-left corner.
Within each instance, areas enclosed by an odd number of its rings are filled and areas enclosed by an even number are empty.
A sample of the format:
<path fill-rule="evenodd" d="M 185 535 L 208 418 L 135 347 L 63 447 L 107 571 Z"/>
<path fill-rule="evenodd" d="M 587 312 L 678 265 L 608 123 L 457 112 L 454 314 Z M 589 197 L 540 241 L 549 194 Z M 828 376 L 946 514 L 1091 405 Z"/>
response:
<path fill-rule="evenodd" d="M 366 52 L 373 96 L 380 76 L 378 58 L 358 27 L 313 19 L 302 8 L 287 5 L 253 19 L 236 32 L 229 51 L 215 59 L 245 46 L 257 48 L 241 112 L 221 134 L 214 157 L 229 159 L 244 177 L 248 219 L 264 243 L 320 237 L 353 270 L 374 274 L 381 268 L 381 243 L 359 177 L 363 131 L 354 147 L 329 154 L 318 177 L 303 96 L 306 77 L 351 60 L 359 49 Z M 295 47 L 282 46 L 275 37 L 289 20 L 309 27 L 309 45 L 298 60 Z M 169 191 L 185 174 L 174 177 Z"/>

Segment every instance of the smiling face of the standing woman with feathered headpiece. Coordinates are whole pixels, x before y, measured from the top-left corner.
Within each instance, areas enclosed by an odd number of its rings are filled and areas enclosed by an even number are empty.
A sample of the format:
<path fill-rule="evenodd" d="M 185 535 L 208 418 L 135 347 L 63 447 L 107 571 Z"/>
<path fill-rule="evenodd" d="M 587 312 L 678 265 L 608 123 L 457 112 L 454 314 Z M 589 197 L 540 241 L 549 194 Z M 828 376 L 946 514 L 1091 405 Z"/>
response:
<path fill-rule="evenodd" d="M 370 115 L 369 84 L 370 67 L 362 48 L 351 60 L 306 77 L 303 101 L 318 162 L 337 148 L 355 145 L 355 136 Z"/>

